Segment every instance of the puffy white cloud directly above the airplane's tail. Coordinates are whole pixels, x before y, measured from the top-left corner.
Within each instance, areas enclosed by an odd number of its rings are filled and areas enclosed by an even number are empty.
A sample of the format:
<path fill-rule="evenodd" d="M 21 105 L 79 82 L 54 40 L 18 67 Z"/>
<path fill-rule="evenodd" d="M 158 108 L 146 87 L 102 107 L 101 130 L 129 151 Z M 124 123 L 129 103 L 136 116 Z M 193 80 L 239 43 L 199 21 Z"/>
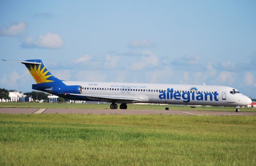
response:
<path fill-rule="evenodd" d="M 50 48 L 58 49 L 62 47 L 63 41 L 60 35 L 48 32 L 47 34 L 40 35 L 38 39 L 34 40 L 32 36 L 28 36 L 26 40 L 22 43 L 22 47 L 38 47 L 38 48 Z"/>

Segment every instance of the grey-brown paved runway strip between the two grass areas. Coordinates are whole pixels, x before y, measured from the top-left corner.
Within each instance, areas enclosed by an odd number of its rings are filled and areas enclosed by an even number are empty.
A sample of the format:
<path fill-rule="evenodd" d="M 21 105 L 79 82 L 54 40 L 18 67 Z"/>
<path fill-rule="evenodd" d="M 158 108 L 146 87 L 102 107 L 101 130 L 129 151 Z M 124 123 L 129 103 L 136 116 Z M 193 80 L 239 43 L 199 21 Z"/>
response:
<path fill-rule="evenodd" d="M 98 114 L 98 115 L 256 115 L 256 112 L 232 111 L 173 111 L 173 110 L 123 110 L 123 109 L 39 109 L 39 108 L 0 108 L 0 114 Z"/>

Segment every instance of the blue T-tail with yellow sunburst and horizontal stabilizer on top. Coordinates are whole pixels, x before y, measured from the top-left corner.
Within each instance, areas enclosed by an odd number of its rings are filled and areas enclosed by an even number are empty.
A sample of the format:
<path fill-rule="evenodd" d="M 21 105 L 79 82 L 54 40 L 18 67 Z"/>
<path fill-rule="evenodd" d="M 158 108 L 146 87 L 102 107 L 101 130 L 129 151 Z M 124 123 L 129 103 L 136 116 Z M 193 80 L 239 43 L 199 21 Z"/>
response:
<path fill-rule="evenodd" d="M 4 60 L 4 59 L 2 59 Z M 61 81 L 60 79 L 54 77 L 52 73 L 45 67 L 44 62 L 40 59 L 30 59 L 25 61 L 13 61 L 13 60 L 4 60 L 4 61 L 12 61 L 12 62 L 20 62 L 23 63 L 36 83 L 48 83 L 54 81 Z"/>

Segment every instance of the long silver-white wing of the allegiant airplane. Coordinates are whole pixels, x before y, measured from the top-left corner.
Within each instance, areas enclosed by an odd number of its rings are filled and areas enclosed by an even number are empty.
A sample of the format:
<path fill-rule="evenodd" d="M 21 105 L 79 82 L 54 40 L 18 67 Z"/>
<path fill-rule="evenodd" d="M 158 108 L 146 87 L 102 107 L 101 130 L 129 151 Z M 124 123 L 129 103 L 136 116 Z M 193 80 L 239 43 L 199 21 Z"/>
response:
<path fill-rule="evenodd" d="M 103 101 L 110 102 L 112 100 L 116 101 L 141 101 L 139 97 L 133 97 L 133 96 L 123 96 L 123 95 L 92 95 L 92 94 L 75 94 L 75 93 L 68 93 L 69 95 L 74 96 L 84 96 L 87 98 L 93 98 L 93 99 L 100 99 Z"/>

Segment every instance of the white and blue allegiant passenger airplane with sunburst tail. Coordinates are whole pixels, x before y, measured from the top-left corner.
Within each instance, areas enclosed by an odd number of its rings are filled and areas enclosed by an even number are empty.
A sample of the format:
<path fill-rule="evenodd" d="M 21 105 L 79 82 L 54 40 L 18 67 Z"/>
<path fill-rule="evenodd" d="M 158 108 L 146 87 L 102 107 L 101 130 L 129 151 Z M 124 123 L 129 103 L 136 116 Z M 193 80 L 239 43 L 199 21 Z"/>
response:
<path fill-rule="evenodd" d="M 23 63 L 36 81 L 32 84 L 34 90 L 71 100 L 109 102 L 110 109 L 117 109 L 116 103 L 120 103 L 120 109 L 127 109 L 128 103 L 162 103 L 233 106 L 240 112 L 241 106 L 252 103 L 249 97 L 227 86 L 64 81 L 54 77 L 40 59 L 4 61 Z"/>

